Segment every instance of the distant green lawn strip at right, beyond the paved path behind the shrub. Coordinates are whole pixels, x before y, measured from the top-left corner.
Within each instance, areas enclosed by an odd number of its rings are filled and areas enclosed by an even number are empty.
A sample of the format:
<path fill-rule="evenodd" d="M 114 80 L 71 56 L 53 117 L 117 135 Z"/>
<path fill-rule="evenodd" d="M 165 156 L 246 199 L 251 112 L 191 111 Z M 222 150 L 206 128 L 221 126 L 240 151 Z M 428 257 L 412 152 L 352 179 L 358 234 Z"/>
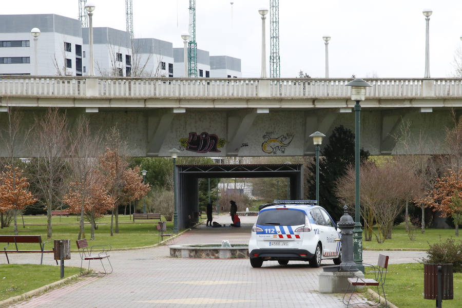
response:
<path fill-rule="evenodd" d="M 375 237 L 372 241 L 362 242 L 364 249 L 399 249 L 399 248 L 412 248 L 412 249 L 428 249 L 428 244 L 434 244 L 445 241 L 449 237 L 454 237 L 456 240 L 462 240 L 462 236 L 456 237 L 454 229 L 425 229 L 425 234 L 420 233 L 420 229 L 414 230 L 415 240 L 411 241 L 406 232 L 405 224 L 400 224 L 393 228 L 392 239 L 385 240 L 382 244 L 377 243 Z M 440 239 L 441 237 L 441 239 Z"/>

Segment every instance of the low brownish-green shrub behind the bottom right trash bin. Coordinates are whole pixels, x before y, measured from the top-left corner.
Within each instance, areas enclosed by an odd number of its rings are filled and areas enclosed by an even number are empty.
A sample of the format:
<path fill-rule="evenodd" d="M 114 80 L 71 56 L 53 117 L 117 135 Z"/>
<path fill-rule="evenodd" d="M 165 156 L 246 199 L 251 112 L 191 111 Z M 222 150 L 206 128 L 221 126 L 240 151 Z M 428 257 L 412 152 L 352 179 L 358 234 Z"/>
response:
<path fill-rule="evenodd" d="M 440 238 L 441 239 L 441 238 Z M 449 238 L 446 242 L 429 244 L 427 257 L 424 263 L 452 263 L 453 272 L 462 272 L 462 241 L 458 243 Z"/>

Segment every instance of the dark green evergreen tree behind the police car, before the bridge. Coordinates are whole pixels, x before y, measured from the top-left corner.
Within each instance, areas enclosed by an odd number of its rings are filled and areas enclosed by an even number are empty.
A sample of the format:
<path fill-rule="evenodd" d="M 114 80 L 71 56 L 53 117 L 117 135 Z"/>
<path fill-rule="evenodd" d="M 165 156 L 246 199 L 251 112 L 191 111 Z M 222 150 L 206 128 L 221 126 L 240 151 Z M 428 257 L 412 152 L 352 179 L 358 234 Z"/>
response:
<path fill-rule="evenodd" d="M 360 160 L 369 157 L 369 151 L 361 148 Z M 336 182 L 345 174 L 347 166 L 355 163 L 355 135 L 343 125 L 334 128 L 329 142 L 320 152 L 319 205 L 324 207 L 335 221 L 343 215 L 342 204 L 336 197 Z M 316 199 L 316 161 L 308 165 L 311 177 L 307 178 L 309 199 Z"/>

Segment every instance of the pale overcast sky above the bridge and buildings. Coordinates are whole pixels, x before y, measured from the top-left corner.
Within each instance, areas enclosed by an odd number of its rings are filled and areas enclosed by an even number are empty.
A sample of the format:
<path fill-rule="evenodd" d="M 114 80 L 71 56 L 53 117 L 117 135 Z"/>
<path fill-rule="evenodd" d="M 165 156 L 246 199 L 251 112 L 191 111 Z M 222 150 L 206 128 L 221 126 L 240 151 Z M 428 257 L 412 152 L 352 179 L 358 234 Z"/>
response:
<path fill-rule="evenodd" d="M 182 47 L 188 28 L 188 0 L 132 0 L 135 37 L 155 37 Z M 199 49 L 210 55 L 242 60 L 243 77 L 260 76 L 260 7 L 269 0 L 196 0 Z M 94 0 L 95 27 L 125 30 L 125 0 Z M 15 0 L 1 14 L 55 13 L 78 18 L 78 0 Z M 233 7 L 233 14 L 232 14 Z M 331 78 L 420 78 L 425 70 L 425 16 L 430 19 L 430 75 L 451 76 L 454 52 L 462 46 L 460 0 L 280 0 L 279 45 L 281 77 L 301 69 L 324 77 L 324 42 L 329 34 Z M 233 17 L 232 17 L 233 16 Z M 266 19 L 269 59 L 269 13 Z M 267 60 L 269 75 L 269 60 Z"/>

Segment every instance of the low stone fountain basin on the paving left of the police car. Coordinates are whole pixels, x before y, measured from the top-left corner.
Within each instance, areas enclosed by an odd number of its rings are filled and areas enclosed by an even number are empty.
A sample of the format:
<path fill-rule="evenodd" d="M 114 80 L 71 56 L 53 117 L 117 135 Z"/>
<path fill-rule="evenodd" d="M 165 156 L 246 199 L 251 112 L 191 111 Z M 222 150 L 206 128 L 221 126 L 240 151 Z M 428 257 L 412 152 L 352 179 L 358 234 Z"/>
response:
<path fill-rule="evenodd" d="M 204 259 L 245 259 L 248 258 L 247 244 L 231 244 L 222 247 L 221 244 L 187 244 L 171 245 L 170 257 L 174 258 L 204 258 Z"/>

